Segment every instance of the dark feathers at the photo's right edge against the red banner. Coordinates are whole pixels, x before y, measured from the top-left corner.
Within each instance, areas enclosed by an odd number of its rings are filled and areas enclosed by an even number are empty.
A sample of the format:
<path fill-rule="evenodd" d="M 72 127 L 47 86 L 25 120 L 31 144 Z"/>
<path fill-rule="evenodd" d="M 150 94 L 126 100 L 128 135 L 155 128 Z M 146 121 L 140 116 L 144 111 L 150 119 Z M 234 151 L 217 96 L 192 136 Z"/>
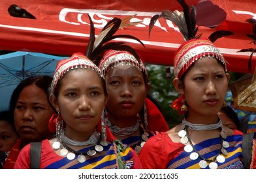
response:
<path fill-rule="evenodd" d="M 248 36 L 251 39 L 251 43 L 253 43 L 254 45 L 256 45 L 256 19 L 253 18 L 249 18 L 246 19 L 246 22 L 251 23 L 253 25 L 253 34 L 246 34 L 246 36 Z M 251 55 L 249 57 L 249 62 L 248 62 L 248 72 L 251 72 L 251 59 L 253 57 L 253 53 L 256 52 L 256 47 L 255 48 L 249 48 L 249 49 L 241 49 L 238 52 L 251 52 Z M 253 74 L 253 79 L 252 81 L 255 81 L 255 75 L 256 75 L 256 69 L 254 71 L 255 73 Z"/>

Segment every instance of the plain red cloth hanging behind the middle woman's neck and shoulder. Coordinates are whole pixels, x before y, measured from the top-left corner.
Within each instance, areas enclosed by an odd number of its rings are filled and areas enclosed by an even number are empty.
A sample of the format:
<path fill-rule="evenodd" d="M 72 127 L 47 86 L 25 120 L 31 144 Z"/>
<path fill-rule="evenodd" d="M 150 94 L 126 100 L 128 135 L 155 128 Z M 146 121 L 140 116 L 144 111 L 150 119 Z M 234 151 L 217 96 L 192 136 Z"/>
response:
<path fill-rule="evenodd" d="M 168 131 L 167 122 L 157 106 L 148 98 L 146 98 L 145 103 L 148 113 L 148 130 L 158 132 Z"/>

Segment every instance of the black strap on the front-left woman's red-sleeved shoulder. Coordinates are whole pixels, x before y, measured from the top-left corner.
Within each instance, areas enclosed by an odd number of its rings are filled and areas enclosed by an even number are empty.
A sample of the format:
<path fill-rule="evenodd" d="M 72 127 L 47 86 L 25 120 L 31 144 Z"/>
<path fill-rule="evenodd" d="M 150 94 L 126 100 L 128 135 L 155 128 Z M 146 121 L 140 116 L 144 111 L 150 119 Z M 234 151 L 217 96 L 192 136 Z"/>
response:
<path fill-rule="evenodd" d="M 31 142 L 30 143 L 30 168 L 40 169 L 41 161 L 41 142 Z"/>

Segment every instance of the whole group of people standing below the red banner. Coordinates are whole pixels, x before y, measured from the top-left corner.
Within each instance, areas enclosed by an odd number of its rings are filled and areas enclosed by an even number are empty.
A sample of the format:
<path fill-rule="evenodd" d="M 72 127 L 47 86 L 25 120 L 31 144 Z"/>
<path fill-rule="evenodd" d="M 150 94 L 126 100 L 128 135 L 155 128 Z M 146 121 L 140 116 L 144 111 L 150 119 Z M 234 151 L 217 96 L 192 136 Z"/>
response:
<path fill-rule="evenodd" d="M 141 57 L 110 46 L 90 58 L 74 53 L 52 77 L 16 87 L 0 114 L 1 168 L 244 168 L 244 133 L 225 105 L 230 75 L 213 42 L 194 37 L 176 51 L 172 107 L 182 120 L 171 129 Z"/>

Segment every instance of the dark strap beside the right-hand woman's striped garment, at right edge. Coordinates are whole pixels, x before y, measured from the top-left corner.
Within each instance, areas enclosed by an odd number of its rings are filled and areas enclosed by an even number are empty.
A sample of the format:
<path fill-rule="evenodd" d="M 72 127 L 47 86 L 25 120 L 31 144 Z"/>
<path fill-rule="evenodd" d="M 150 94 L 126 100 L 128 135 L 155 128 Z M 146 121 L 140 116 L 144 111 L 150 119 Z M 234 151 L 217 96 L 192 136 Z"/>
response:
<path fill-rule="evenodd" d="M 249 169 L 249 164 L 251 163 L 251 149 L 253 146 L 253 136 L 254 133 L 246 133 L 243 136 L 242 142 L 242 153 L 244 158 L 244 168 Z"/>

